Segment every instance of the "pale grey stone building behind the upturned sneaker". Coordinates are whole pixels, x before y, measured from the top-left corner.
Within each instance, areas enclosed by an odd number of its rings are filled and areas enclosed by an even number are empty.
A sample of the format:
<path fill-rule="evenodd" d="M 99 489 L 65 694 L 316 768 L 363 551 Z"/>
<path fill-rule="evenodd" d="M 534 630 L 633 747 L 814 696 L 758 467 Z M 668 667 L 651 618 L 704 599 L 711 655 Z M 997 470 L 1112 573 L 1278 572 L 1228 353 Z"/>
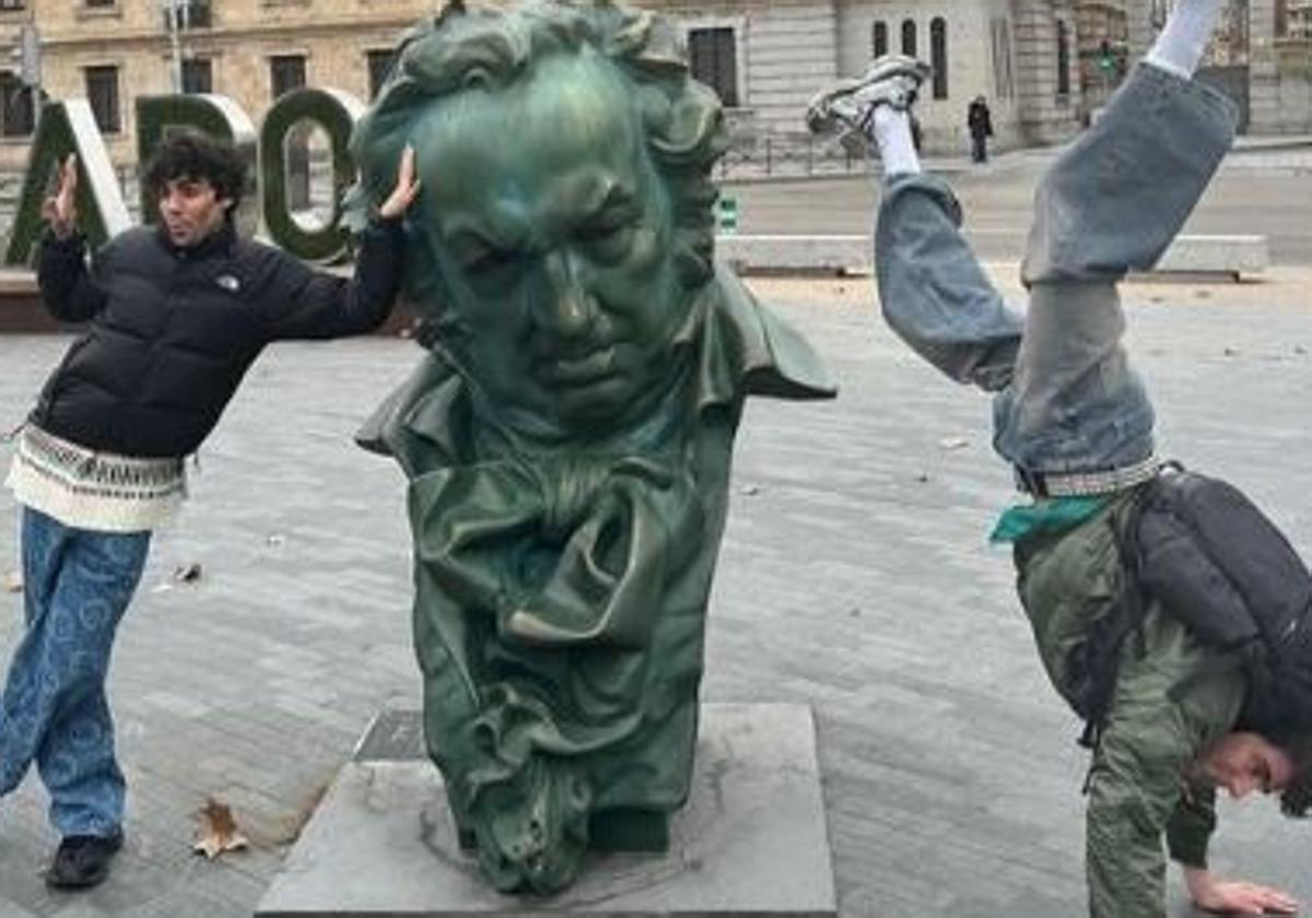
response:
<path fill-rule="evenodd" d="M 739 146 L 806 140 L 802 113 L 819 87 L 859 75 L 884 51 L 934 63 L 917 106 L 925 146 L 968 148 L 966 108 L 988 97 L 1002 147 L 1051 143 L 1078 127 L 1075 0 L 643 0 L 677 16 L 698 46 L 735 56 Z M 712 38 L 712 35 L 715 35 Z M 723 56 L 723 55 L 720 55 Z M 705 72 L 703 72 L 705 79 Z M 720 81 L 710 80 L 724 94 Z"/>

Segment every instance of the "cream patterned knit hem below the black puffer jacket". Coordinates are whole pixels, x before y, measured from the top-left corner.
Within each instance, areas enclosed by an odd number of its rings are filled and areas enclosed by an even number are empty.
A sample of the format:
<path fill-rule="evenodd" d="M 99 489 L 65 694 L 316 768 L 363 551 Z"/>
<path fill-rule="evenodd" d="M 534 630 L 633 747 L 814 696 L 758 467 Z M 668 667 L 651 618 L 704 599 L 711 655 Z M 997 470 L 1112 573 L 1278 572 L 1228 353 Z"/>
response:
<path fill-rule="evenodd" d="M 186 497 L 181 458 L 96 452 L 29 424 L 5 484 L 24 506 L 64 526 L 140 532 L 167 523 Z"/>

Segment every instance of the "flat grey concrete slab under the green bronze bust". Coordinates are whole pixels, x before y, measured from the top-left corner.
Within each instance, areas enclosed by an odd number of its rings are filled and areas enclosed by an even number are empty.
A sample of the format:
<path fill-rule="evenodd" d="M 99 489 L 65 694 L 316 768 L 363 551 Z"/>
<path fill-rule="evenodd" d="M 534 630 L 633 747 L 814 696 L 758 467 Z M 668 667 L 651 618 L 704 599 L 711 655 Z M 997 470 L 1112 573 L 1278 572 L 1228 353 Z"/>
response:
<path fill-rule="evenodd" d="M 419 749 L 417 712 L 375 725 L 256 918 L 837 915 L 807 706 L 703 706 L 693 791 L 672 820 L 669 852 L 592 855 L 551 898 L 496 893 L 462 852 L 441 776 Z"/>

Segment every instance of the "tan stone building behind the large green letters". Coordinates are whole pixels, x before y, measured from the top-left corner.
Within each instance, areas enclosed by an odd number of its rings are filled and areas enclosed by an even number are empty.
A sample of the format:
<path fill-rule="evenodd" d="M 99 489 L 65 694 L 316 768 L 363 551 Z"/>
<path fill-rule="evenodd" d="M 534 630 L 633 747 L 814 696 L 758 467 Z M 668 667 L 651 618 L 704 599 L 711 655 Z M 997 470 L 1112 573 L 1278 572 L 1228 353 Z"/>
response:
<path fill-rule="evenodd" d="M 188 90 L 230 96 L 257 125 L 281 90 L 299 85 L 367 100 L 370 68 L 377 79 L 398 35 L 433 12 L 422 0 L 176 1 L 174 54 L 169 0 L 0 0 L 0 60 L 35 26 L 42 88 L 52 98 L 88 98 L 112 157 L 127 167 L 136 96 L 174 92 L 181 80 Z M 13 76 L 0 106 L 0 169 L 21 164 L 30 134 L 14 118 Z"/>

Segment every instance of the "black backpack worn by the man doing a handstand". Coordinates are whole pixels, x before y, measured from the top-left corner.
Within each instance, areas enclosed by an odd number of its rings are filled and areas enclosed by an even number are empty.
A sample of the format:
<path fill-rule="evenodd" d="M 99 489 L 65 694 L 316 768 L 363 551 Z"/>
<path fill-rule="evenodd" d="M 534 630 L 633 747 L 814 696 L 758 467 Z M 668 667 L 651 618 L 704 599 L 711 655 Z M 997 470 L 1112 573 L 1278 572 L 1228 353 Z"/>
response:
<path fill-rule="evenodd" d="M 1240 653 L 1249 674 L 1242 723 L 1263 734 L 1312 730 L 1312 574 L 1237 488 L 1166 471 L 1141 487 L 1120 538 L 1126 588 L 1072 660 L 1072 703 L 1097 744 L 1122 644 L 1149 599 L 1199 641 Z"/>

